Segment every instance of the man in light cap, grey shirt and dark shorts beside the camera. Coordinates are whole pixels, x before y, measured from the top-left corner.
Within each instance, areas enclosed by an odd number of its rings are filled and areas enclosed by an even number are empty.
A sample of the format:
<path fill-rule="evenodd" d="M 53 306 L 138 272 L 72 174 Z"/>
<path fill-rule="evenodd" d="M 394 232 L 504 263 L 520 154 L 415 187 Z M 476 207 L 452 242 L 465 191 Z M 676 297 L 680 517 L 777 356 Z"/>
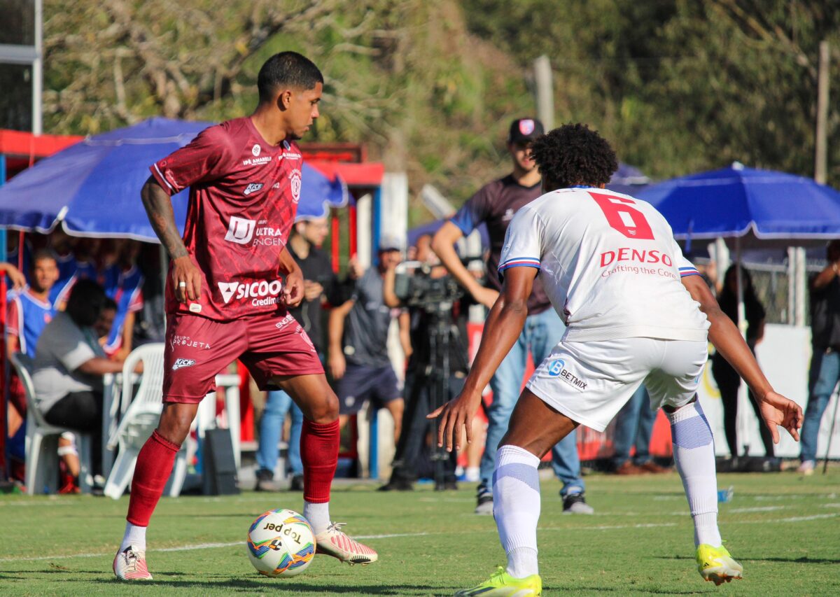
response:
<path fill-rule="evenodd" d="M 386 306 L 382 278 L 402 261 L 402 243 L 397 238 L 380 239 L 379 263 L 356 280 L 350 299 L 329 314 L 329 372 L 339 395 L 339 425 L 358 413 L 365 401 L 385 407 L 394 417 L 394 441 L 402 425 L 402 390 L 396 380 L 386 343 L 391 319 L 399 317 L 400 343 L 411 353 L 407 312 Z M 347 324 L 345 325 L 345 321 Z"/>

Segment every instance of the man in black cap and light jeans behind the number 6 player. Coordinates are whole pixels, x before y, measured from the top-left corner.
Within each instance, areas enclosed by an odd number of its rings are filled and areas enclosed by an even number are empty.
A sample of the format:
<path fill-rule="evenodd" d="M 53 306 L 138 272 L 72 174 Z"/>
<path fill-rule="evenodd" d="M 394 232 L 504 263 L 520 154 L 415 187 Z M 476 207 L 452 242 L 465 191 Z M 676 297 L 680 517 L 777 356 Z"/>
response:
<path fill-rule="evenodd" d="M 496 272 L 501 248 L 504 245 L 507 225 L 517 210 L 542 195 L 541 180 L 537 166 L 531 158 L 530 144 L 543 134 L 543 124 L 534 118 L 519 118 L 511 123 L 507 136 L 513 171 L 511 174 L 480 188 L 464 206 L 434 235 L 432 249 L 449 273 L 475 298 L 475 301 L 490 308 L 496 302 L 501 283 L 496 275 L 488 275 L 486 286 L 482 286 L 461 263 L 454 244 L 459 238 L 471 233 L 480 223 L 487 225 L 490 233 L 490 256 L 487 271 Z M 493 513 L 493 469 L 496 463 L 496 448 L 507 431 L 513 406 L 516 405 L 528 352 L 534 366 L 545 359 L 554 345 L 563 336 L 565 326 L 551 307 L 540 280 L 535 280 L 528 300 L 528 320 L 507 358 L 502 361 L 490 382 L 493 402 L 487 409 L 487 439 L 481 457 L 476 514 Z M 563 511 L 573 514 L 592 514 L 592 507 L 584 498 L 585 485 L 580 477 L 580 458 L 577 453 L 575 432 L 564 437 L 552 449 L 554 473 L 563 481 L 560 496 Z"/>

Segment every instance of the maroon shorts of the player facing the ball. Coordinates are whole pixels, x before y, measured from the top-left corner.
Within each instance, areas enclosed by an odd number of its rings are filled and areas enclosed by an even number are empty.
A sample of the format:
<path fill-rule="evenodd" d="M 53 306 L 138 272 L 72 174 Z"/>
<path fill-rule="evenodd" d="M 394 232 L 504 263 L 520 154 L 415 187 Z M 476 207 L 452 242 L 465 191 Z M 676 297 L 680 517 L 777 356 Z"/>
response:
<path fill-rule="evenodd" d="M 172 314 L 166 320 L 165 402 L 200 402 L 216 375 L 240 359 L 265 390 L 274 375 L 323 374 L 312 340 L 288 313 L 230 322 Z"/>

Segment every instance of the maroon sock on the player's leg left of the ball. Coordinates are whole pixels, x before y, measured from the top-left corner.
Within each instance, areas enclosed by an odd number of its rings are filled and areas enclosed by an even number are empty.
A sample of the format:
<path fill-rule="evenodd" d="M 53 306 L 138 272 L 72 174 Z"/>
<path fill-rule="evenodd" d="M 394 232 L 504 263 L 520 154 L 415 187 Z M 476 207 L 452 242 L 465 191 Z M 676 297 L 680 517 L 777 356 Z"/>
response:
<path fill-rule="evenodd" d="M 160 435 L 155 429 L 137 455 L 134 479 L 131 481 L 129 516 L 126 520 L 136 526 L 149 526 L 149 519 L 175 463 L 175 455 L 181 449 L 176 443 Z"/>

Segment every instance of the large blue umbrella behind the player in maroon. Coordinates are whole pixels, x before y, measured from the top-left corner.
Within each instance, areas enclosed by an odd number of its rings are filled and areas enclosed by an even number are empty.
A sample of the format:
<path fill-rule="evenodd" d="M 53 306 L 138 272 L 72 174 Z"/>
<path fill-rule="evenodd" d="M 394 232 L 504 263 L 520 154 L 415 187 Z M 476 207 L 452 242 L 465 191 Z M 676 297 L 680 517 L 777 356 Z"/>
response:
<path fill-rule="evenodd" d="M 158 242 L 139 191 L 149 165 L 188 144 L 213 123 L 150 118 L 98 134 L 39 161 L 0 187 L 0 227 L 47 233 L 58 223 L 74 236 Z M 323 202 L 344 205 L 347 191 L 303 165 L 298 209 L 313 215 Z M 187 193 L 172 199 L 176 222 L 186 219 Z"/>

